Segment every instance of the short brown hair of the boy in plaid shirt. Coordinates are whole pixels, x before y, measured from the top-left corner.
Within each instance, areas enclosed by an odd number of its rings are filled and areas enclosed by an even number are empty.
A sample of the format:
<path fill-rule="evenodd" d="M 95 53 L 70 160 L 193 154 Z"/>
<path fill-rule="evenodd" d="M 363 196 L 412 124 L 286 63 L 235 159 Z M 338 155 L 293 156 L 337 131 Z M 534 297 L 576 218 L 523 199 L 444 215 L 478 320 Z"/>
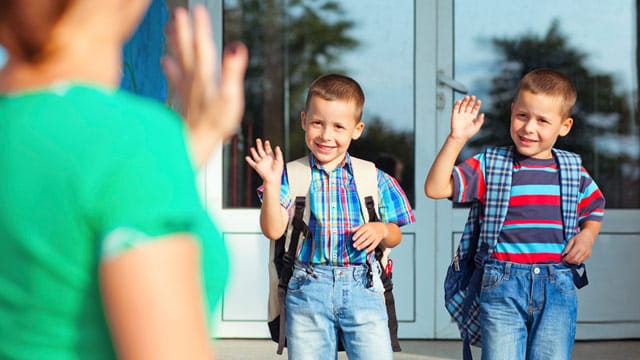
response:
<path fill-rule="evenodd" d="M 343 100 L 353 102 L 356 106 L 358 122 L 362 118 L 364 92 L 358 82 L 348 76 L 327 74 L 315 79 L 309 86 L 304 111 L 309 110 L 309 104 L 314 96 L 328 101 Z"/>

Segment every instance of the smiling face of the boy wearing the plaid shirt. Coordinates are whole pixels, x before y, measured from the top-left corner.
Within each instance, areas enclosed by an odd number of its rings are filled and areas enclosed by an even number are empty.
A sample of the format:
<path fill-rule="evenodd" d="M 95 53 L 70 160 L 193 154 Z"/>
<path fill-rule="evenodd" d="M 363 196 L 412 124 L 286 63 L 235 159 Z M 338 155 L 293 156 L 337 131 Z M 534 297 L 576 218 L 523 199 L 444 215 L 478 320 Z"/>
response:
<path fill-rule="evenodd" d="M 305 142 L 316 160 L 333 170 L 347 154 L 351 140 L 362 135 L 364 123 L 358 120 L 353 102 L 311 98 L 306 112 L 300 114 Z"/>

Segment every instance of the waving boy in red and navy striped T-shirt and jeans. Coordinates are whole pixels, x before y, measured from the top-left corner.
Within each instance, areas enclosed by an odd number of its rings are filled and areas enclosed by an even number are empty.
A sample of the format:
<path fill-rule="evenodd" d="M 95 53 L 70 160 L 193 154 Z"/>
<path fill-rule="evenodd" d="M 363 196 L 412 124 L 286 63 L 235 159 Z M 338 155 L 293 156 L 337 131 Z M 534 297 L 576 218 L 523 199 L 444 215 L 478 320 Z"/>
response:
<path fill-rule="evenodd" d="M 510 200 L 496 247 L 485 263 L 480 293 L 483 359 L 571 357 L 577 298 L 567 264 L 581 264 L 591 255 L 605 204 L 596 183 L 581 168 L 579 232 L 565 239 L 562 184 L 553 146 L 571 130 L 575 101 L 570 79 L 538 69 L 520 81 L 511 105 Z M 480 105 L 473 96 L 456 101 L 451 132 L 425 181 L 428 197 L 494 204 L 485 197 L 484 153 L 454 166 L 484 122 L 484 114 L 478 115 Z"/>

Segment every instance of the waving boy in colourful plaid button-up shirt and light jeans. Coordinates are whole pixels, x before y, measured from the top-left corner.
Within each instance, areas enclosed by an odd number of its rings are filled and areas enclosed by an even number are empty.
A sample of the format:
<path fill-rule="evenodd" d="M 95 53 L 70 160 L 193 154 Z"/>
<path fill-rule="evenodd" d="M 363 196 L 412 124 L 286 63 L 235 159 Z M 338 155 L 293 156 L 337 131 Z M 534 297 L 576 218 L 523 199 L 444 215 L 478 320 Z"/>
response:
<path fill-rule="evenodd" d="M 356 81 L 330 74 L 316 79 L 301 113 L 311 167 L 309 227 L 286 297 L 290 359 L 337 356 L 338 334 L 349 359 L 391 359 L 380 266 L 373 251 L 400 243 L 400 226 L 414 222 L 393 178 L 377 171 L 381 222 L 365 223 L 347 152 L 362 134 L 364 94 Z M 260 225 L 277 240 L 292 210 L 279 147 L 257 139 L 247 162 L 263 179 Z M 373 285 L 368 286 L 369 274 Z M 308 265 L 307 265 L 308 264 Z M 335 355 L 332 355 L 335 354 Z"/>

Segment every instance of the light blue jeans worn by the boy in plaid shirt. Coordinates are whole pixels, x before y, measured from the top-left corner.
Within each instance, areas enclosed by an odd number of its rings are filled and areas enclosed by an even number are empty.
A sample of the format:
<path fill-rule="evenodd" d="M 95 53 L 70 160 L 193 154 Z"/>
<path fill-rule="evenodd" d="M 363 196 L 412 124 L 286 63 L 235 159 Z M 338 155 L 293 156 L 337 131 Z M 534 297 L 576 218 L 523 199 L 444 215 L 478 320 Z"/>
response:
<path fill-rule="evenodd" d="M 349 360 L 393 358 L 380 266 L 296 265 L 287 291 L 289 359 L 337 359 L 340 337 Z"/>

